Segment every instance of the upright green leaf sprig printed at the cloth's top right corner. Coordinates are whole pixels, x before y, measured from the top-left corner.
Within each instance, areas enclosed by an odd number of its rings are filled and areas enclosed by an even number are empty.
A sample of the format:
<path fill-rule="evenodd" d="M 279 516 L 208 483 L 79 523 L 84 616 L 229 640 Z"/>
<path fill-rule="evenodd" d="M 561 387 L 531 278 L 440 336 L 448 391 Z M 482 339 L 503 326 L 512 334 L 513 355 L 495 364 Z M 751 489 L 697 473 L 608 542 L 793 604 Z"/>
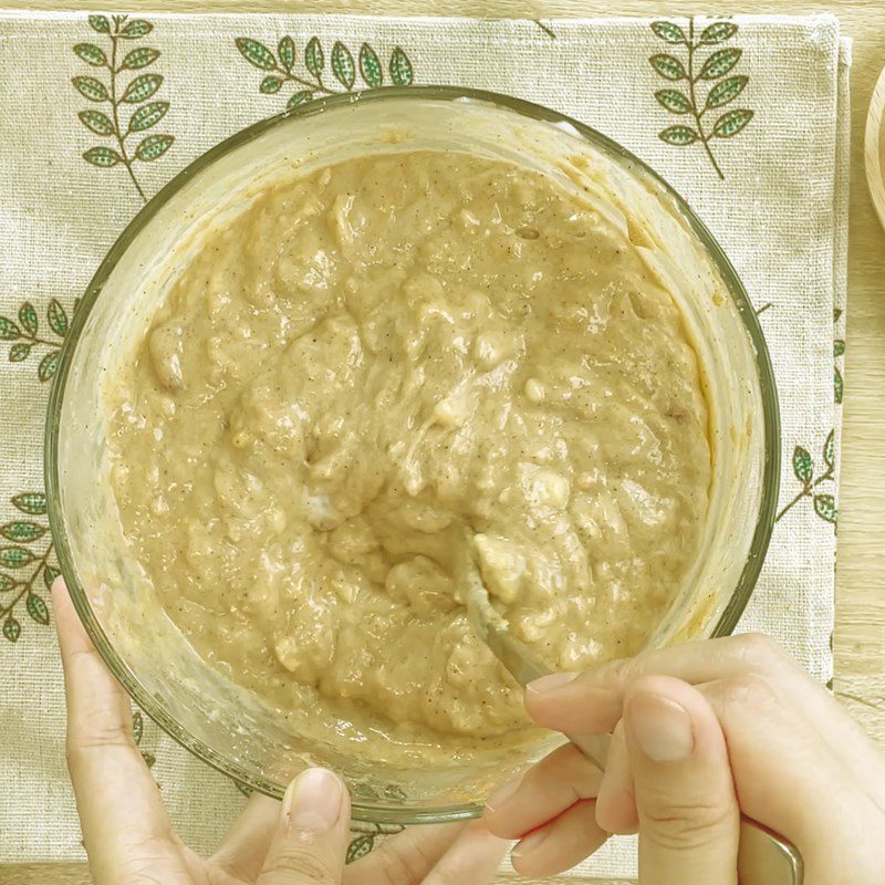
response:
<path fill-rule="evenodd" d="M 750 77 L 731 74 L 743 54 L 739 46 L 721 46 L 705 53 L 709 46 L 719 46 L 731 40 L 738 33 L 738 25 L 730 21 L 717 21 L 697 34 L 695 18 L 691 17 L 687 31 L 675 22 L 663 20 L 653 21 L 650 28 L 655 37 L 671 51 L 650 55 L 648 63 L 658 76 L 680 86 L 656 91 L 655 100 L 670 114 L 689 117 L 687 125 L 668 126 L 658 133 L 658 137 L 676 147 L 700 144 L 716 174 L 725 179 L 711 143 L 718 138 L 733 138 L 741 133 L 752 121 L 753 112 L 737 107 L 726 111 L 712 122 L 707 114 L 733 102 L 747 88 Z"/>

